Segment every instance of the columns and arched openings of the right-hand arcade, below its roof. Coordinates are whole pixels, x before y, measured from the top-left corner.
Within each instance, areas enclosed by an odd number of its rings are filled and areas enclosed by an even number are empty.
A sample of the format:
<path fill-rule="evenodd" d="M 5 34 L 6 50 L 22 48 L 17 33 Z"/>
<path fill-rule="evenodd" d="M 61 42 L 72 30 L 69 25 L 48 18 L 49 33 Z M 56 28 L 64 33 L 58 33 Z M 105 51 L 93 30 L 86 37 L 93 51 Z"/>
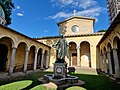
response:
<path fill-rule="evenodd" d="M 100 48 L 100 68 L 101 71 L 120 78 L 120 38 L 114 36 L 111 42 Z"/>

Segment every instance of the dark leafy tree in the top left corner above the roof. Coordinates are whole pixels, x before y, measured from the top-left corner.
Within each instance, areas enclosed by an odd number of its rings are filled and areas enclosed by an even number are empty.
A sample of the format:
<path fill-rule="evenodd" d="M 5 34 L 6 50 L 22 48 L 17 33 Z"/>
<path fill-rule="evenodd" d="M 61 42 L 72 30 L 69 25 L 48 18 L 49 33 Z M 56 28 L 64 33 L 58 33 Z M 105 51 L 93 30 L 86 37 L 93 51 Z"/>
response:
<path fill-rule="evenodd" d="M 12 0 L 0 0 L 0 5 L 5 13 L 6 26 L 10 25 L 12 20 L 10 15 L 12 14 L 12 9 L 14 9 L 14 3 Z"/>

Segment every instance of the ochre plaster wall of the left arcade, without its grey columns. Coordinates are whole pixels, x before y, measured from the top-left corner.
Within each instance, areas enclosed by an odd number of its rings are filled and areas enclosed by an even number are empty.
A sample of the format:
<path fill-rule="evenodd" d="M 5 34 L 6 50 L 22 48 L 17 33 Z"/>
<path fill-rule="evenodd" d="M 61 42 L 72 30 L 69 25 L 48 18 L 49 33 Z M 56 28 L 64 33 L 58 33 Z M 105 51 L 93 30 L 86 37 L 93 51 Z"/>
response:
<path fill-rule="evenodd" d="M 35 47 L 35 51 L 29 54 L 28 64 L 31 64 L 31 63 L 33 64 L 34 62 L 33 56 L 35 52 L 38 52 L 40 48 L 43 49 L 43 53 L 45 50 L 50 52 L 50 47 L 48 47 L 47 45 L 39 43 L 33 40 L 32 38 L 29 38 L 23 34 L 20 34 L 2 25 L 0 25 L 0 44 L 5 44 L 8 47 L 8 55 L 7 55 L 8 60 L 6 62 L 6 68 L 9 68 L 10 66 L 12 48 L 16 48 L 14 66 L 21 65 L 21 64 L 24 65 L 25 52 L 27 50 L 31 52 L 30 48 L 32 46 Z"/>

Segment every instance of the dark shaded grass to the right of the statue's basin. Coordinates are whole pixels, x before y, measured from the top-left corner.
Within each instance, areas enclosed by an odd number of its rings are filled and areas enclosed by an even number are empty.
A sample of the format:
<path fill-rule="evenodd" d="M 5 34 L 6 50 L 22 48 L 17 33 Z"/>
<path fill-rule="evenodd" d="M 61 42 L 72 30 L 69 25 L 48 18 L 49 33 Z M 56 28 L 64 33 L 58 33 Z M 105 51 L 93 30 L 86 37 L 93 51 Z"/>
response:
<path fill-rule="evenodd" d="M 120 90 L 120 85 L 110 80 L 105 75 L 87 75 L 87 74 L 74 74 L 80 80 L 85 81 L 83 88 L 87 90 Z"/>

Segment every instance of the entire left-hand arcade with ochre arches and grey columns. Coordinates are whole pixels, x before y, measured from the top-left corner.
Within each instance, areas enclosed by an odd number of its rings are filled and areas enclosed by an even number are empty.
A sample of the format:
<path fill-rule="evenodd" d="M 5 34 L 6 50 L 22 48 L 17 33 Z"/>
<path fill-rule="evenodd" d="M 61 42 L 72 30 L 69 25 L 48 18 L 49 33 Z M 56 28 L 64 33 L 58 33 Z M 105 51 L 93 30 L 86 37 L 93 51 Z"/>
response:
<path fill-rule="evenodd" d="M 0 72 L 27 72 L 49 67 L 50 47 L 0 26 Z"/>

